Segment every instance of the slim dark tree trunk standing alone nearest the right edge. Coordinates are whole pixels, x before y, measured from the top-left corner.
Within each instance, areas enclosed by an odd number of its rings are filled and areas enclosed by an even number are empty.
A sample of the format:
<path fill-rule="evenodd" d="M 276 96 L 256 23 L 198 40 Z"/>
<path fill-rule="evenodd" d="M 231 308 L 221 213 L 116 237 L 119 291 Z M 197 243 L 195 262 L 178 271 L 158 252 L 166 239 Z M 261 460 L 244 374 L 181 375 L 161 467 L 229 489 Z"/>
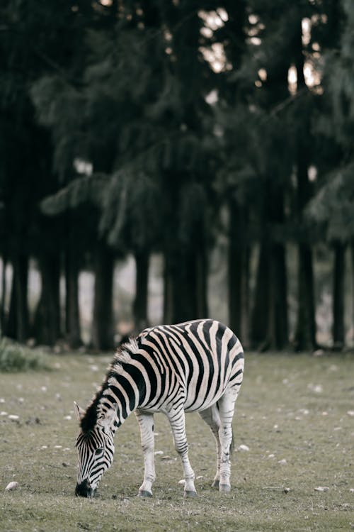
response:
<path fill-rule="evenodd" d="M 343 349 L 344 334 L 344 279 L 346 275 L 346 245 L 336 242 L 333 272 L 333 347 Z"/>

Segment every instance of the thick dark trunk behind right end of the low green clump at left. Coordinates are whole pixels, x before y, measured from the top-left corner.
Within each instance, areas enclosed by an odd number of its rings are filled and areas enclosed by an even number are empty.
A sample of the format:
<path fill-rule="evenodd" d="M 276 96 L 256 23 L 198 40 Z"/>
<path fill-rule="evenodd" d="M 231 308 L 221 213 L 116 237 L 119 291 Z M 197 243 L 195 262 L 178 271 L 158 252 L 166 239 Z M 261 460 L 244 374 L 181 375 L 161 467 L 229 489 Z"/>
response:
<path fill-rule="evenodd" d="M 60 259 L 45 255 L 39 259 L 42 290 L 35 311 L 33 334 L 38 343 L 55 345 L 60 338 Z"/>

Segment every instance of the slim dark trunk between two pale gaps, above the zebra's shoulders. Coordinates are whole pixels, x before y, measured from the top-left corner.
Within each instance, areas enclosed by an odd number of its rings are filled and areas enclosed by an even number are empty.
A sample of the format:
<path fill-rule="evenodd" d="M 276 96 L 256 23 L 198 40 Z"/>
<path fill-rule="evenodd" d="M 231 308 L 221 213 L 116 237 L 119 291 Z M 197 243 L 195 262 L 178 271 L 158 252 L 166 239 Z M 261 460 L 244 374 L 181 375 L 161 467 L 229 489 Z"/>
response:
<path fill-rule="evenodd" d="M 135 253 L 136 288 L 133 305 L 135 329 L 142 331 L 148 324 L 147 294 L 149 282 L 149 253 L 142 251 Z"/>

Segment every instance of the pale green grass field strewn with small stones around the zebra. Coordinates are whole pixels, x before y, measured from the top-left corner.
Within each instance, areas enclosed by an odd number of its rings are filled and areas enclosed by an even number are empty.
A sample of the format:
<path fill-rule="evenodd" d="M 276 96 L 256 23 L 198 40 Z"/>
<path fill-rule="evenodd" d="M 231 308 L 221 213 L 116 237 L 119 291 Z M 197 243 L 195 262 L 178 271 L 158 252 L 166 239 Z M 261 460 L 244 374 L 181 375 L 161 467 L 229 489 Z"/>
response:
<path fill-rule="evenodd" d="M 134 415 L 115 436 L 100 497 L 74 497 L 73 400 L 86 405 L 109 359 L 50 360 L 50 371 L 0 374 L 1 531 L 354 530 L 353 358 L 247 354 L 234 436 L 236 449 L 249 450 L 233 455 L 230 494 L 210 487 L 214 440 L 198 414 L 187 416 L 195 499 L 183 498 L 181 464 L 162 415 L 153 499 L 136 497 L 143 465 Z M 13 480 L 18 489 L 6 492 Z"/>

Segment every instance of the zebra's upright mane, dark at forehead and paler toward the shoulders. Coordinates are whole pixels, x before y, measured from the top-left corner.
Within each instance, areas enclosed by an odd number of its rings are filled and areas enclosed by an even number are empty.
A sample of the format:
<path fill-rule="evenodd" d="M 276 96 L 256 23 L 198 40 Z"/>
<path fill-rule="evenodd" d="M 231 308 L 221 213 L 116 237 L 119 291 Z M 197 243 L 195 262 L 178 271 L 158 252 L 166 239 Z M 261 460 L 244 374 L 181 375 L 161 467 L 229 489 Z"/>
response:
<path fill-rule="evenodd" d="M 115 375 L 120 375 L 123 371 L 123 364 L 128 364 L 131 359 L 131 355 L 134 355 L 139 350 L 139 345 L 137 339 L 134 337 L 129 338 L 127 341 L 122 343 L 113 358 L 113 361 L 108 366 L 108 372 L 105 375 L 105 380 L 101 387 L 99 387 L 96 395 L 91 400 L 91 403 L 87 407 L 84 416 L 82 416 L 80 421 L 81 431 L 89 435 L 93 428 L 95 428 L 97 423 L 97 414 L 98 414 L 98 405 L 103 392 L 109 387 L 109 380 Z"/>

